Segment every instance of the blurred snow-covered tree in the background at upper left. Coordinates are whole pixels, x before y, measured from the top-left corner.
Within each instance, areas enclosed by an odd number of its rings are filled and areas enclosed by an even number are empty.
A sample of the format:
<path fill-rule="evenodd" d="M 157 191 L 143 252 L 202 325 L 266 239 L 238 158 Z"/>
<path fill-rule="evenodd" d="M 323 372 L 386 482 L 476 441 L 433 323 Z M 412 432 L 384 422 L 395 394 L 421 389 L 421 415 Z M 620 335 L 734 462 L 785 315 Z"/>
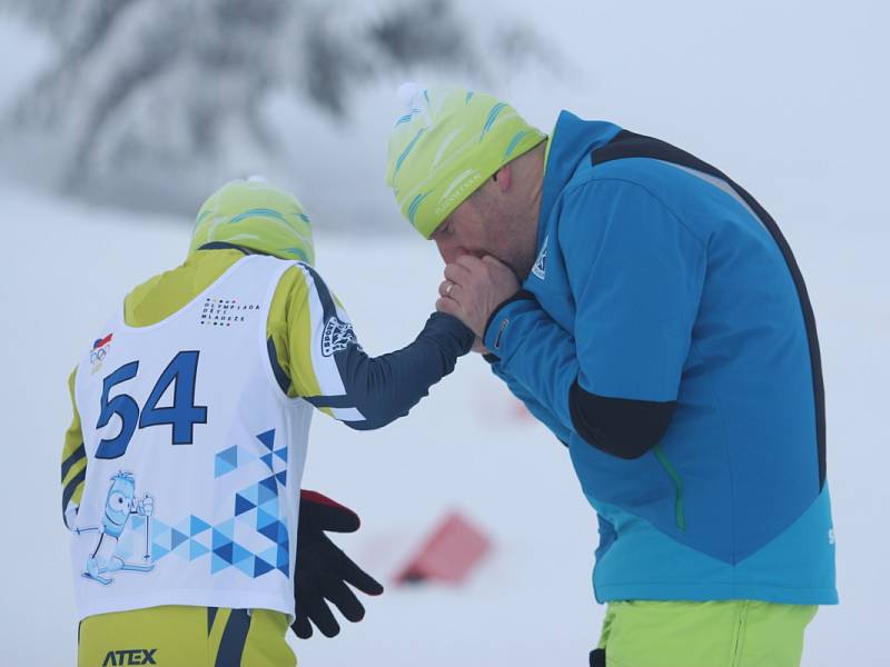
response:
<path fill-rule="evenodd" d="M 425 66 L 484 77 L 533 43 L 521 26 L 478 27 L 451 0 L 0 2 L 58 46 L 7 135 L 29 136 L 58 186 L 161 208 L 191 208 L 234 151 L 275 152 L 263 113 L 273 93 L 348 122 L 350 97 L 375 78 Z"/>

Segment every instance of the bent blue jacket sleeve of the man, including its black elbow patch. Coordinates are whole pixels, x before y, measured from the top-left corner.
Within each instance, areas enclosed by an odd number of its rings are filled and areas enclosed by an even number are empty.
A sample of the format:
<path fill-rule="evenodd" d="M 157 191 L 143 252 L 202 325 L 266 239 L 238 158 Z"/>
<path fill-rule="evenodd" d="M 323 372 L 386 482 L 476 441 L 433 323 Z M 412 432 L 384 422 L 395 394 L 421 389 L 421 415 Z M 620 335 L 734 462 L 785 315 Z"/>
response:
<path fill-rule="evenodd" d="M 617 456 L 641 456 L 672 415 L 704 245 L 645 189 L 616 180 L 564 196 L 558 240 L 574 331 L 521 295 L 491 318 L 485 345 L 566 428 Z"/>

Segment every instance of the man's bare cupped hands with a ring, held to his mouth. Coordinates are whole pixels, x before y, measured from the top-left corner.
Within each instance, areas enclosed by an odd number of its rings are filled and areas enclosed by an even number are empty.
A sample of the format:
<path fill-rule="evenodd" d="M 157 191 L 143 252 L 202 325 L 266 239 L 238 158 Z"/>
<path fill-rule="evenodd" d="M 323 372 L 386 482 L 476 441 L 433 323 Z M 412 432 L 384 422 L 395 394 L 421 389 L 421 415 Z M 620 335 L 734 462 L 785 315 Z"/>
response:
<path fill-rule="evenodd" d="M 453 315 L 482 338 L 494 309 L 517 291 L 520 281 L 505 263 L 487 255 L 463 255 L 445 267 L 436 310 Z"/>

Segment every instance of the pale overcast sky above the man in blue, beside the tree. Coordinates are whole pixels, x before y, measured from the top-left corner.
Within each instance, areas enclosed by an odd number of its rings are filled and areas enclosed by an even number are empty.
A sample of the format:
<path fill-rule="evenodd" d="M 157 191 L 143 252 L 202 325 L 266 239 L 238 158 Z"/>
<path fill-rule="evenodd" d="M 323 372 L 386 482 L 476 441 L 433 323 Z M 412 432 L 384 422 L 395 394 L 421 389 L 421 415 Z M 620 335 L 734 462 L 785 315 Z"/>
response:
<path fill-rule="evenodd" d="M 326 217 L 357 217 L 369 209 L 390 211 L 397 225 L 382 185 L 383 162 L 398 111 L 394 90 L 405 78 L 490 88 L 545 131 L 565 108 L 678 143 L 733 176 L 790 233 L 800 222 L 783 215 L 791 212 L 783 210 L 785 201 L 815 202 L 830 213 L 823 223 L 843 219 L 848 230 L 878 223 L 873 211 L 888 171 L 883 156 L 890 152 L 890 3 L 459 0 L 459 6 L 469 21 L 488 24 L 504 23 L 520 8 L 520 18 L 562 54 L 562 71 L 514 70 L 507 63 L 496 82 L 393 72 L 355 92 L 350 128 L 305 110 L 295 122 L 291 106 L 273 104 L 285 142 L 299 156 L 288 185 L 324 213 L 317 216 L 323 226 Z M 0 10 L 0 38 L 2 102 L 49 50 L 10 21 L 8 10 Z M 330 155 L 343 158 L 326 165 Z M 334 196 L 344 182 L 354 197 Z"/>

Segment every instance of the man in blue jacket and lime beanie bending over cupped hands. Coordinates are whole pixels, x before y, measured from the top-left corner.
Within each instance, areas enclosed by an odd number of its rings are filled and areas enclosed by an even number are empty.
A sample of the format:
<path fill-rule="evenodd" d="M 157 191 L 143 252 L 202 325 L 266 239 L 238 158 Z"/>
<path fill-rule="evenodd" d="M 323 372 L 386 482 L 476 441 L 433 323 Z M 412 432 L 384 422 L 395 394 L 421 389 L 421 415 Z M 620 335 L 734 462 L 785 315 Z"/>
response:
<path fill-rule="evenodd" d="M 446 262 L 437 308 L 599 516 L 592 664 L 799 665 L 838 596 L 819 345 L 775 222 L 615 125 L 563 111 L 547 138 L 485 93 L 403 92 L 387 181 Z"/>

